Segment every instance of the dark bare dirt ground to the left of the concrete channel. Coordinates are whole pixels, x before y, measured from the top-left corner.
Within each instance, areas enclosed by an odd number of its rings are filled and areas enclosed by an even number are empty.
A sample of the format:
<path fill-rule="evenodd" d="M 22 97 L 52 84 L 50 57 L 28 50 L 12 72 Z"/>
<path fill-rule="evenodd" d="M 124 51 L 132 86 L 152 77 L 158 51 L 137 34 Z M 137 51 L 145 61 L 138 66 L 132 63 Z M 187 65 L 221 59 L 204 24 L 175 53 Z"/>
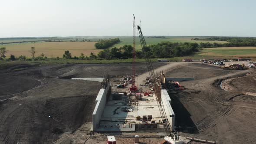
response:
<path fill-rule="evenodd" d="M 147 72 L 144 63 L 137 67 L 138 74 Z M 70 78 L 108 74 L 131 75 L 131 64 L 13 64 L 0 69 L 0 143 L 52 143 L 81 127 L 86 133 L 101 84 Z"/>

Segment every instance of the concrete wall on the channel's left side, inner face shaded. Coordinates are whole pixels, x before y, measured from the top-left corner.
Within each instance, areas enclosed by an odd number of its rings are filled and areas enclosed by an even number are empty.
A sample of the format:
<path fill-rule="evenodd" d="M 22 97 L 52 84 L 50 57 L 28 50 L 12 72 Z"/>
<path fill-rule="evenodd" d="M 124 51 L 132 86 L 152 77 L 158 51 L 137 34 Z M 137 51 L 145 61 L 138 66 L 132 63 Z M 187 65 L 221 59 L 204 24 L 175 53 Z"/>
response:
<path fill-rule="evenodd" d="M 92 131 L 96 131 L 96 128 L 97 128 L 96 126 L 102 117 L 102 113 L 103 113 L 105 105 L 107 103 L 107 96 L 110 95 L 109 89 L 110 89 L 110 85 L 108 83 L 108 85 L 105 89 L 101 89 L 98 92 L 98 96 L 95 100 L 96 106 L 92 113 Z"/>

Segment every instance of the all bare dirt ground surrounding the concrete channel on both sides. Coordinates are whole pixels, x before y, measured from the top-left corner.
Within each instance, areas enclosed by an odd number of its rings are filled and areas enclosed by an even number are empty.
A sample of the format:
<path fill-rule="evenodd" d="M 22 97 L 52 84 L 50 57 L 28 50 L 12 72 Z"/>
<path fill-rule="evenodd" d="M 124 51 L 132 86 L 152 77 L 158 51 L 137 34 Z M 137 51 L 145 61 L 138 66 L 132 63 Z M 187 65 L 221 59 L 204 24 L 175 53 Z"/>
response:
<path fill-rule="evenodd" d="M 148 76 L 146 66 L 136 66 L 136 81 L 142 83 Z M 195 78 L 180 82 L 185 90 L 170 93 L 175 127 L 181 136 L 218 144 L 255 143 L 255 69 L 223 70 L 189 62 L 153 66 L 166 77 Z M 70 78 L 100 77 L 108 72 L 111 78 L 131 75 L 131 64 L 12 65 L 0 70 L 0 143 L 105 144 L 106 136 L 115 135 L 118 144 L 131 144 L 138 134 L 141 142 L 160 144 L 163 134 L 159 133 L 89 136 L 95 106 L 90 102 L 95 100 L 100 83 Z"/>

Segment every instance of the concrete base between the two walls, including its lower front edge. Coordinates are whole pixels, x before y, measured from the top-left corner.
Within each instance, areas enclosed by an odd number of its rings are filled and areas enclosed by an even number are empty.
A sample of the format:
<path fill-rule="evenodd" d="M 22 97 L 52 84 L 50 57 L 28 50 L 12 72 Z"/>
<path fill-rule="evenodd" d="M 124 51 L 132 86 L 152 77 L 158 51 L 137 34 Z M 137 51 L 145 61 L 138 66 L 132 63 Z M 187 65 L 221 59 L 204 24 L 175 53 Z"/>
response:
<path fill-rule="evenodd" d="M 132 97 L 135 99 L 135 96 Z M 128 98 L 128 96 L 125 96 L 122 93 L 112 94 L 109 97 L 99 123 L 100 127 L 97 127 L 97 131 L 102 131 L 102 126 L 105 127 L 105 125 L 107 126 L 105 131 L 150 131 L 149 128 L 153 128 L 153 126 L 138 127 L 138 124 L 145 124 L 145 122 L 141 121 L 141 119 L 137 120 L 136 116 L 140 116 L 142 118 L 143 115 L 152 115 L 155 121 L 161 120 L 158 103 L 154 95 L 141 96 L 141 100 L 138 102 L 133 101 L 131 102 L 131 105 L 129 105 Z M 123 111 L 123 108 L 132 109 L 132 111 Z M 116 129 L 116 125 L 124 123 L 132 124 L 131 128 L 124 129 L 123 127 L 119 127 L 119 130 Z M 135 126 L 133 126 L 134 124 Z M 113 126 L 109 128 L 108 125 Z M 147 125 L 151 125 L 151 122 L 149 121 Z M 160 127 L 154 128 L 158 128 L 159 131 L 162 131 Z"/>

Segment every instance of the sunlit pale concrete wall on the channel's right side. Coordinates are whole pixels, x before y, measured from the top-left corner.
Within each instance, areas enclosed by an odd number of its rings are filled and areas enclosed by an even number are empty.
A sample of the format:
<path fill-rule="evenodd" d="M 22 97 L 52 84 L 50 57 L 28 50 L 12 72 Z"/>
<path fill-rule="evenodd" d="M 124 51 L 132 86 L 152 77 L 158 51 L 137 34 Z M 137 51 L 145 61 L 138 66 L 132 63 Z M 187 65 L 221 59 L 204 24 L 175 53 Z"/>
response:
<path fill-rule="evenodd" d="M 164 105 L 164 110 L 165 110 L 167 119 L 168 119 L 169 123 L 171 124 L 171 131 L 173 131 L 174 123 L 175 123 L 175 115 L 174 115 L 173 109 L 171 108 L 171 98 L 166 89 L 162 89 L 161 98 L 162 98 L 162 102 Z"/>

